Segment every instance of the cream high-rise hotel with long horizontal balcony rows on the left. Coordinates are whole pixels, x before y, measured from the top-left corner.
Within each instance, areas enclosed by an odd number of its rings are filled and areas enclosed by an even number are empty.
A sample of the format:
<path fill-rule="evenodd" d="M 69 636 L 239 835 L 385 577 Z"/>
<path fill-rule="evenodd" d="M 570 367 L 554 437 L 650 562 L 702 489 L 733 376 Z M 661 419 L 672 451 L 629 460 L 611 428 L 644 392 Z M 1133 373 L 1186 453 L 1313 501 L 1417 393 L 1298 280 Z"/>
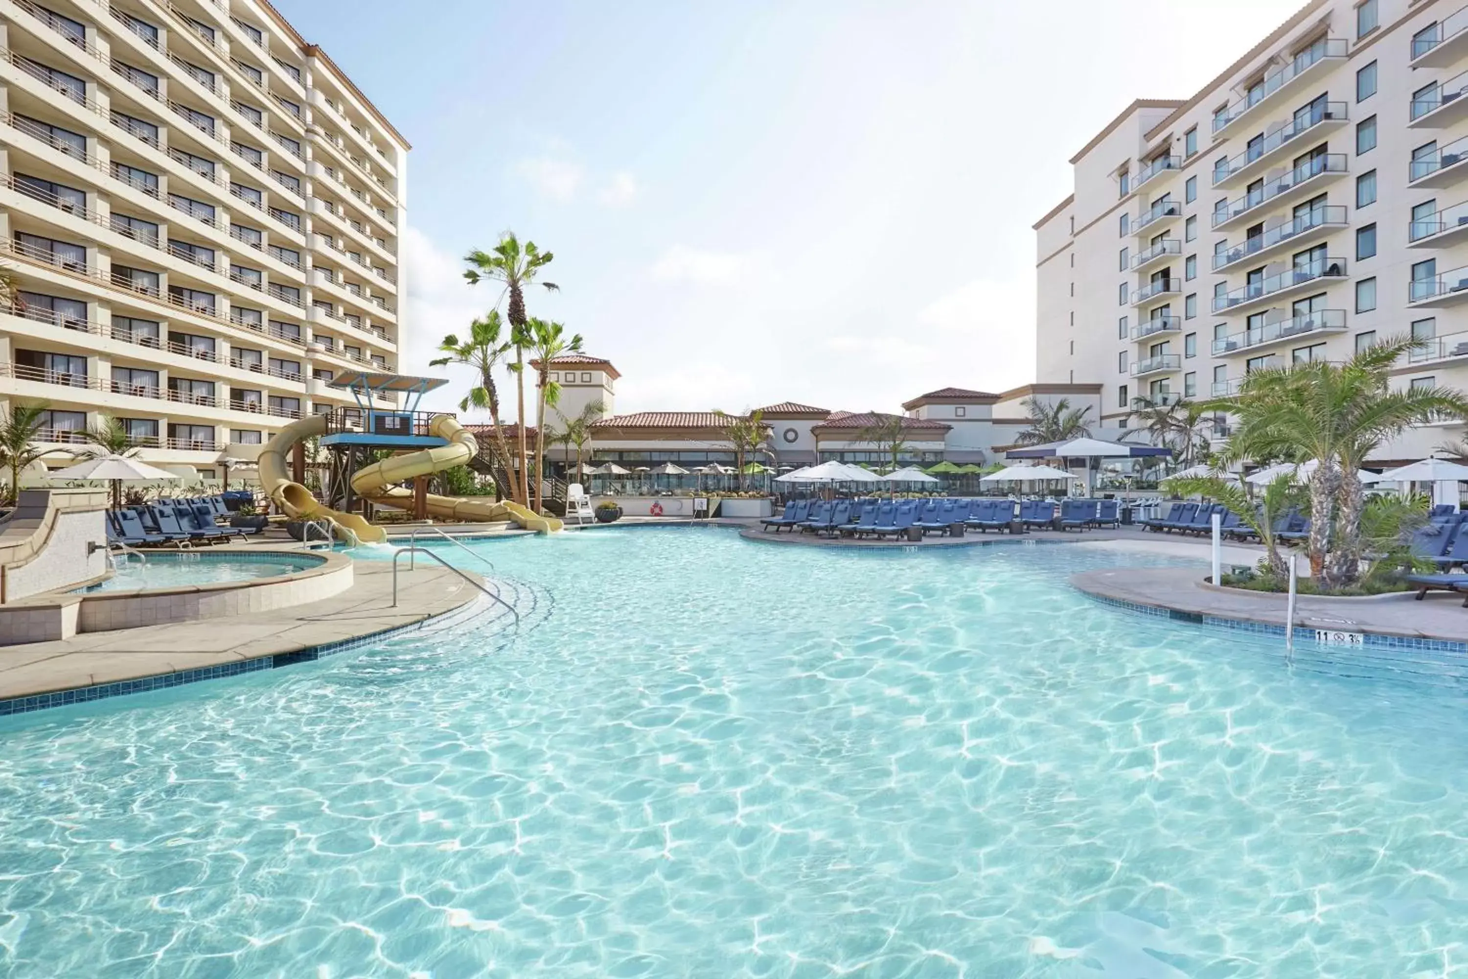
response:
<path fill-rule="evenodd" d="M 351 405 L 398 367 L 407 154 L 264 0 L 0 0 L 0 402 L 203 476 Z"/>

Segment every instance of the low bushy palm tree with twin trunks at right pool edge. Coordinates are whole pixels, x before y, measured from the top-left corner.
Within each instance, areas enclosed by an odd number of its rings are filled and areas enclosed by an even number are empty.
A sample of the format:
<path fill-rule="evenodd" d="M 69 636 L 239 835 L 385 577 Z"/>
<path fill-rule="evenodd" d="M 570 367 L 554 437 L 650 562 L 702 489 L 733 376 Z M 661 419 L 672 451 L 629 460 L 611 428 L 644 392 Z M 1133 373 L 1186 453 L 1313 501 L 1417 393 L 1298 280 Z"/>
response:
<path fill-rule="evenodd" d="M 1414 421 L 1437 412 L 1468 414 L 1468 399 L 1452 389 L 1390 389 L 1392 367 L 1420 345 L 1400 336 L 1343 364 L 1314 361 L 1255 370 L 1238 395 L 1208 405 L 1239 418 L 1226 451 L 1229 461 L 1317 462 L 1309 476 L 1309 568 L 1324 590 L 1351 584 L 1359 575 L 1365 498 L 1356 473 L 1367 456 Z"/>

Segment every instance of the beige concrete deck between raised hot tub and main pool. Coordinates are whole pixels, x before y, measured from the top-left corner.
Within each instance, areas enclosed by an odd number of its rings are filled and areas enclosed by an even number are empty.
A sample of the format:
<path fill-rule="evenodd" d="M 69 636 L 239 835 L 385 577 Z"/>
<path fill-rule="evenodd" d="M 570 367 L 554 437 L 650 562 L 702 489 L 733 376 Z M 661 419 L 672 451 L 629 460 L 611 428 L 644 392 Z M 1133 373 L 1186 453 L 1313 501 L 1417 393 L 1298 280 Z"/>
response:
<path fill-rule="evenodd" d="M 261 546 L 280 549 L 280 543 L 267 540 Z M 414 625 L 480 596 L 476 587 L 446 568 L 420 561 L 410 571 L 404 561 L 398 571 L 398 606 L 392 608 L 390 562 L 355 561 L 352 572 L 352 587 L 339 594 L 261 615 L 82 633 L 69 640 L 6 646 L 0 649 L 0 700 L 299 653 Z"/>

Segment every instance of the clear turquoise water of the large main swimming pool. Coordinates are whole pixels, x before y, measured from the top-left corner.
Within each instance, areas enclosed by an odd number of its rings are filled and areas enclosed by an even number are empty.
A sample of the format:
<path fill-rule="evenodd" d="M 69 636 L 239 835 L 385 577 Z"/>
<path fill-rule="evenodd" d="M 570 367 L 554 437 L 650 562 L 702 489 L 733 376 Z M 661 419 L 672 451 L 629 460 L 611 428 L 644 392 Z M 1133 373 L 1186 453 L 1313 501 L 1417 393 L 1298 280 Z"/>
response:
<path fill-rule="evenodd" d="M 1080 597 L 1149 561 L 1067 546 L 482 550 L 518 638 L 0 727 L 0 975 L 1468 969 L 1452 658 L 1286 660 Z"/>

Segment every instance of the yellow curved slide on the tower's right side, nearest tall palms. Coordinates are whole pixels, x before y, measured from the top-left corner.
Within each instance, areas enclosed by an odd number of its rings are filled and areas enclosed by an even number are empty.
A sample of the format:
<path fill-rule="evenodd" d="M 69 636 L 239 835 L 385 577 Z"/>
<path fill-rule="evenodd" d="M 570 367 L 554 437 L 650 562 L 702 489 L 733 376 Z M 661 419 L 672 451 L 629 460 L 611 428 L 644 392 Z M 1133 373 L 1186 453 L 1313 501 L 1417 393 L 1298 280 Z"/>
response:
<path fill-rule="evenodd" d="M 393 486 L 393 483 L 464 465 L 479 455 L 479 443 L 474 440 L 474 436 L 454 415 L 435 415 L 433 421 L 429 423 L 429 432 L 440 439 L 446 439 L 448 445 L 395 455 L 390 459 L 363 467 L 352 474 L 352 492 L 379 506 L 413 509 L 413 490 Z M 436 496 L 429 493 L 427 508 L 430 517 L 440 520 L 508 520 L 526 530 L 539 533 L 552 533 L 562 527 L 561 521 L 555 517 L 540 517 L 534 511 L 520 503 L 511 503 L 509 501 L 495 502 L 473 496 Z"/>

